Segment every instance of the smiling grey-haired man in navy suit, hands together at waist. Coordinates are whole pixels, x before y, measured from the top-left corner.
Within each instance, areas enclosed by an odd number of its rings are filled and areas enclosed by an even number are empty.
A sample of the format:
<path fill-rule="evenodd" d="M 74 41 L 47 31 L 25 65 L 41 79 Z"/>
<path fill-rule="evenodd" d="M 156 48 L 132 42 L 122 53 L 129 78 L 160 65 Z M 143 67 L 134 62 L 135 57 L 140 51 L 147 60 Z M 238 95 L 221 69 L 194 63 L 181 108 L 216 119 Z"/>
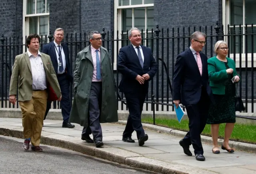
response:
<path fill-rule="evenodd" d="M 135 130 L 138 143 L 142 146 L 148 140 L 148 135 L 142 128 L 141 113 L 148 94 L 148 82 L 156 74 L 157 66 L 151 49 L 140 45 L 140 30 L 132 28 L 128 37 L 132 44 L 122 47 L 118 55 L 118 70 L 122 73 L 119 89 L 125 95 L 130 113 L 122 140 L 135 142 L 132 139 L 132 132 Z"/>

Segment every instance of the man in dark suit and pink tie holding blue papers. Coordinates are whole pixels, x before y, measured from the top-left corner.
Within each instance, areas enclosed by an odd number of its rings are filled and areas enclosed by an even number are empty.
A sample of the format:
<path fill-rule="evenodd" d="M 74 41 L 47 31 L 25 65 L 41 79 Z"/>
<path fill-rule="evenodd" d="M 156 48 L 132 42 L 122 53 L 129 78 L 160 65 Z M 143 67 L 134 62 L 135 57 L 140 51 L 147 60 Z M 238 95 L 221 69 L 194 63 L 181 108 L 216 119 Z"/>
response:
<path fill-rule="evenodd" d="M 204 150 L 200 134 L 204 130 L 208 116 L 212 90 L 208 84 L 207 57 L 201 53 L 206 34 L 194 32 L 190 37 L 191 46 L 180 53 L 176 59 L 173 75 L 172 99 L 176 107 L 182 103 L 189 118 L 189 131 L 180 140 L 184 153 L 192 156 L 189 146 L 192 144 L 196 160 L 204 161 Z"/>

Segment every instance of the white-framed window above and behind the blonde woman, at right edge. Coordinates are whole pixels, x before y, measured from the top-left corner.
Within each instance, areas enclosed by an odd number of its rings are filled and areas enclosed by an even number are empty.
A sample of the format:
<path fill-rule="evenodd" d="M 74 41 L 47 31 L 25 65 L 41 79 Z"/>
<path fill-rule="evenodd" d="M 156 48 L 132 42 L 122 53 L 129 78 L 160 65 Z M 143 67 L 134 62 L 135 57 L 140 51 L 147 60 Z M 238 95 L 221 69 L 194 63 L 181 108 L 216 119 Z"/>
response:
<path fill-rule="evenodd" d="M 245 27 L 247 24 L 247 51 L 252 53 L 252 24 L 254 33 L 256 32 L 256 2 L 255 0 L 226 0 L 226 25 L 230 24 L 230 34 L 236 35 L 240 33 L 239 25 L 241 24 L 241 33 L 245 34 Z M 234 28 L 235 25 L 235 28 Z M 242 48 L 242 53 L 245 53 L 245 35 L 242 36 L 242 42 L 240 42 L 239 36 L 236 36 L 234 41 L 233 36 L 230 37 L 230 53 L 234 53 L 234 44 L 236 47 L 235 53 L 240 53 L 240 47 Z M 253 38 L 254 42 L 254 53 L 256 53 L 256 37 Z M 244 57 L 244 56 L 243 56 Z"/>

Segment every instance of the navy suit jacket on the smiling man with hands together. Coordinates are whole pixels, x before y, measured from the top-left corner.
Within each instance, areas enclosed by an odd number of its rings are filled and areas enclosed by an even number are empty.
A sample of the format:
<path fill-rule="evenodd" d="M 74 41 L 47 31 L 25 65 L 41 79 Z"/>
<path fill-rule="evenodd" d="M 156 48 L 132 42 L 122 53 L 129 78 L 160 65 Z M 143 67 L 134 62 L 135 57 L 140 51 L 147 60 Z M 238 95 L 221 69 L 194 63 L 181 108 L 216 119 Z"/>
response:
<path fill-rule="evenodd" d="M 120 92 L 134 93 L 136 91 L 148 92 L 148 81 L 150 81 L 156 74 L 156 61 L 150 48 L 142 46 L 144 55 L 143 68 L 140 65 L 138 55 L 131 45 L 122 47 L 118 55 L 118 71 L 122 73 L 122 80 L 120 81 Z M 141 85 L 137 80 L 137 75 L 144 75 L 148 73 L 150 79 Z"/>

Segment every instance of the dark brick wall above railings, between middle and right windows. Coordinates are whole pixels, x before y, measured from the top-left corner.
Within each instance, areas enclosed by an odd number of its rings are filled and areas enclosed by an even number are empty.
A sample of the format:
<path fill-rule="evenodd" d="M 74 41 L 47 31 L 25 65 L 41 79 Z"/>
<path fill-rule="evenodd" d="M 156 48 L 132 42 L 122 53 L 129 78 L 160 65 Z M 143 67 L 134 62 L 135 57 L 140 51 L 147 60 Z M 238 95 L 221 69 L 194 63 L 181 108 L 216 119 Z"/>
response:
<path fill-rule="evenodd" d="M 163 28 L 211 26 L 220 14 L 222 0 L 154 0 L 154 22 Z"/>

